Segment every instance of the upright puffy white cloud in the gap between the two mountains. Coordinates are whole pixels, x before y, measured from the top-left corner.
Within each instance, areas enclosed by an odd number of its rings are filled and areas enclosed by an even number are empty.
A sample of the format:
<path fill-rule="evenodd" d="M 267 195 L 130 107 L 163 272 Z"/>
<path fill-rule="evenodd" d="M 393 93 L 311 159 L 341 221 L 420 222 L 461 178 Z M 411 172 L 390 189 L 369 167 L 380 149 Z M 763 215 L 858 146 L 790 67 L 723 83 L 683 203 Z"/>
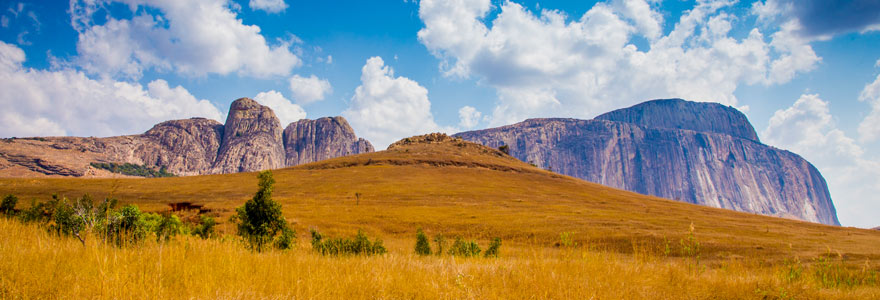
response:
<path fill-rule="evenodd" d="M 395 77 L 380 57 L 368 59 L 361 72 L 361 85 L 342 115 L 376 149 L 404 137 L 442 130 L 431 115 L 427 89 L 409 78 Z"/>

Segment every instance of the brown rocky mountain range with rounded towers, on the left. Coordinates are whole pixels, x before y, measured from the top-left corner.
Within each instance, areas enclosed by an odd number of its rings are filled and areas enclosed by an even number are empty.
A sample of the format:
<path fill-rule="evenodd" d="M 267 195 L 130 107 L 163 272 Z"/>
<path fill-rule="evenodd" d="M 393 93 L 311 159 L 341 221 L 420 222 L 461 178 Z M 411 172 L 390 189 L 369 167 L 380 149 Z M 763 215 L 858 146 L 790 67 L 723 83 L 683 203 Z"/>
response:
<path fill-rule="evenodd" d="M 286 130 L 272 109 L 241 98 L 226 124 L 204 118 L 159 123 L 143 134 L 0 141 L 0 177 L 119 176 L 94 164 L 134 164 L 175 175 L 257 171 L 372 152 L 342 117 L 300 120 Z"/>

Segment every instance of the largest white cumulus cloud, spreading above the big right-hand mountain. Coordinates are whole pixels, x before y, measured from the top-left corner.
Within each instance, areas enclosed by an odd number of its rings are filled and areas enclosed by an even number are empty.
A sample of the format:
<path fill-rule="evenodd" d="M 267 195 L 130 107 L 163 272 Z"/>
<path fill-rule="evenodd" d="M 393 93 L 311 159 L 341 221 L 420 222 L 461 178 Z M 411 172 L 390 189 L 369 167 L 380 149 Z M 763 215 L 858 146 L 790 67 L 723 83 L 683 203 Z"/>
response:
<path fill-rule="evenodd" d="M 496 89 L 490 125 L 592 117 L 654 98 L 737 105 L 740 84 L 784 83 L 815 67 L 820 58 L 797 23 L 730 37 L 724 9 L 734 2 L 698 1 L 663 35 L 662 15 L 644 0 L 601 2 L 576 20 L 506 1 L 491 21 L 486 0 L 424 0 L 418 38 L 447 76 Z M 636 35 L 647 49 L 631 43 Z"/>

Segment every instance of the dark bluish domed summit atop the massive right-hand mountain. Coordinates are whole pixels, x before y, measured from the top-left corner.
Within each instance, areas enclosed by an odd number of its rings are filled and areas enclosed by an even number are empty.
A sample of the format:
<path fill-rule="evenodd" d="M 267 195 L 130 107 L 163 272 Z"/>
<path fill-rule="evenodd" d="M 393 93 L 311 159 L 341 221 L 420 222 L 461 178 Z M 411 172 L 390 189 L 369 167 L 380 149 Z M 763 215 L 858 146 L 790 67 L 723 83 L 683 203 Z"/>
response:
<path fill-rule="evenodd" d="M 719 103 L 682 99 L 657 99 L 618 109 L 596 117 L 644 127 L 685 129 L 727 134 L 759 141 L 755 128 L 745 114 Z"/>

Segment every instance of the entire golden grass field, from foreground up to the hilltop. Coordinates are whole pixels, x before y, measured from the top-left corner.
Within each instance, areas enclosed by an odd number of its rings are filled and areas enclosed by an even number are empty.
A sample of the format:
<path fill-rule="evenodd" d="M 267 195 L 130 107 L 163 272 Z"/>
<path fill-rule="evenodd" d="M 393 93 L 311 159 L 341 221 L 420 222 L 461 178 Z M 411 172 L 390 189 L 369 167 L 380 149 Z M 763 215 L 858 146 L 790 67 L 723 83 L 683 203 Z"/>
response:
<path fill-rule="evenodd" d="M 274 173 L 274 198 L 300 236 L 293 250 L 251 253 L 229 235 L 84 247 L 4 220 L 0 298 L 880 298 L 880 231 L 624 192 L 472 144 L 416 143 Z M 225 221 L 256 182 L 255 173 L 0 179 L 0 194 L 19 196 L 19 208 L 55 192 L 112 195 L 146 211 L 194 202 L 232 233 Z M 320 256 L 309 228 L 362 229 L 389 253 Z M 417 228 L 484 248 L 500 237 L 501 256 L 419 257 Z"/>

